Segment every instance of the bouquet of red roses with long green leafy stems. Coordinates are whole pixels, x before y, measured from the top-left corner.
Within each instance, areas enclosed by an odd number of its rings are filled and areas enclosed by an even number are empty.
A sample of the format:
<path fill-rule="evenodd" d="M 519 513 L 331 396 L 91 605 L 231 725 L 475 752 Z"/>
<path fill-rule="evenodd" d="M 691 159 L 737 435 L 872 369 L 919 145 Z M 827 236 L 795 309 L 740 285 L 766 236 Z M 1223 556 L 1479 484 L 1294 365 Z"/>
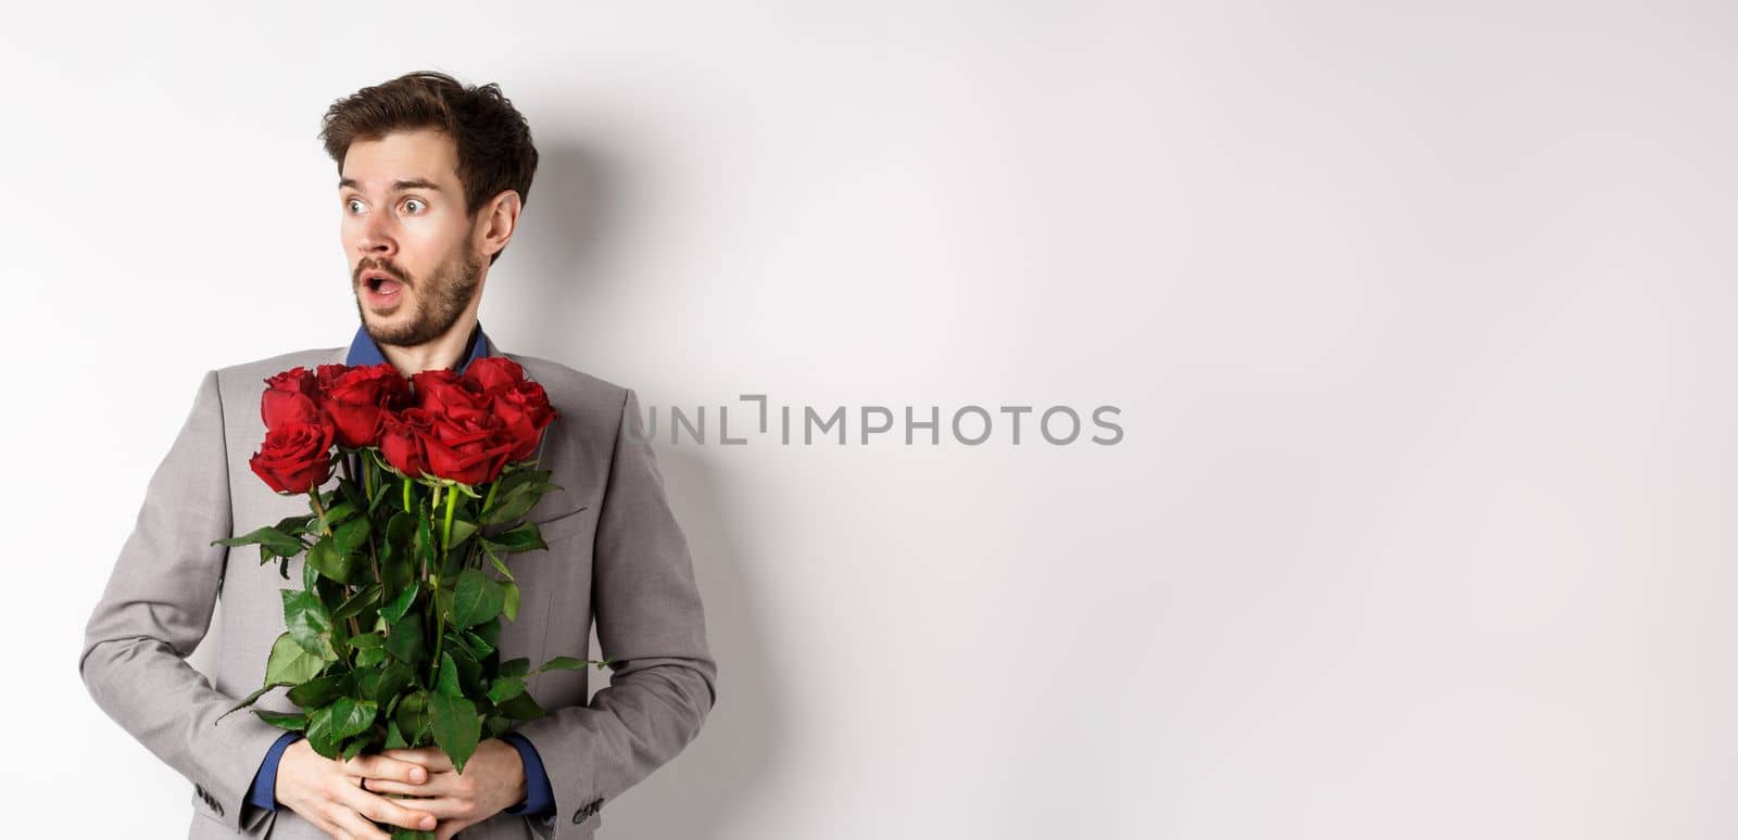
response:
<path fill-rule="evenodd" d="M 547 548 L 525 515 L 560 489 L 534 460 L 556 418 L 542 385 L 504 358 L 410 380 L 391 364 L 322 364 L 268 378 L 259 410 L 266 441 L 249 465 L 276 493 L 308 495 L 309 514 L 217 543 L 259 545 L 285 580 L 306 559 L 302 588 L 283 590 L 289 632 L 266 684 L 229 712 L 289 687 L 302 712 L 254 713 L 327 758 L 434 743 L 459 771 L 483 731 L 541 717 L 530 661 L 501 661 L 497 640 L 520 606 L 504 557 Z"/>

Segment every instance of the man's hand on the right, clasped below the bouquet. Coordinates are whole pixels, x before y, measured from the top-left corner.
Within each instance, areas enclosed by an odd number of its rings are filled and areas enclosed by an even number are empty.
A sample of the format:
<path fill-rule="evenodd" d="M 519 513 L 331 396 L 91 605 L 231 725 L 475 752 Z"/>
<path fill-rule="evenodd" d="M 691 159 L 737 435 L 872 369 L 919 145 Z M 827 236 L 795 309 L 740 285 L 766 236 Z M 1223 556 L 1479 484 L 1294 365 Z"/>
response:
<path fill-rule="evenodd" d="M 386 750 L 379 758 L 412 762 L 428 769 L 426 783 L 368 779 L 368 790 L 428 797 L 412 802 L 419 810 L 440 817 L 434 840 L 450 840 L 462 828 L 481 823 L 525 798 L 525 762 L 513 745 L 490 738 L 476 745 L 476 753 L 455 772 L 440 748 Z"/>

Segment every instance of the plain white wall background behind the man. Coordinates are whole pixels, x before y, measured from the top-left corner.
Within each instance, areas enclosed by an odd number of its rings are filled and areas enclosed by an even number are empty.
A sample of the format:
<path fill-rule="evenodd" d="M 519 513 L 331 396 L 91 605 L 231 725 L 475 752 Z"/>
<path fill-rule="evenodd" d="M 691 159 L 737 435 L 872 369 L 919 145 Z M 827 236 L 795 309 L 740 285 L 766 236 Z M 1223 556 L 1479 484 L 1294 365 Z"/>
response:
<path fill-rule="evenodd" d="M 720 699 L 603 833 L 1738 833 L 1728 3 L 5 17 L 7 837 L 184 837 L 83 623 L 200 375 L 349 340 L 318 118 L 422 68 L 544 156 L 509 351 L 1123 410 L 662 444 Z"/>

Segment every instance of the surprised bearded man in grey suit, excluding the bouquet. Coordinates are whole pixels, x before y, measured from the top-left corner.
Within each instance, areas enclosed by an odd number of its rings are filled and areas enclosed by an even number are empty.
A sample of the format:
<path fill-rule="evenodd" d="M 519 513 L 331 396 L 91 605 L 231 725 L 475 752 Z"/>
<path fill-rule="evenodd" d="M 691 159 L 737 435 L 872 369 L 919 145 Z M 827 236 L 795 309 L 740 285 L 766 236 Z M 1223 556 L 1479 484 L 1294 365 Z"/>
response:
<path fill-rule="evenodd" d="M 109 717 L 195 783 L 191 838 L 386 840 L 374 821 L 441 840 L 461 830 L 464 838 L 591 837 L 601 805 L 680 753 L 716 701 L 688 545 L 638 397 L 551 361 L 502 354 L 478 325 L 488 269 L 518 227 L 537 167 L 530 130 L 499 87 L 412 73 L 337 101 L 322 137 L 339 168 L 341 238 L 362 326 L 348 349 L 205 375 L 90 614 L 80 673 Z M 549 550 L 514 559 L 525 595 L 520 621 L 501 633 L 501 656 L 589 658 L 594 613 L 612 684 L 587 701 L 586 670 L 534 677 L 530 691 L 549 713 L 483 741 L 464 774 L 434 748 L 335 762 L 252 713 L 219 720 L 264 682 L 268 651 L 285 630 L 285 581 L 257 552 L 210 543 L 306 512 L 306 500 L 273 495 L 247 467 L 264 437 L 264 378 L 381 361 L 412 375 L 483 356 L 523 364 L 560 411 L 539 463 L 563 489 L 530 514 Z M 184 658 L 214 611 L 207 680 Z M 283 689 L 255 708 L 295 712 Z"/>

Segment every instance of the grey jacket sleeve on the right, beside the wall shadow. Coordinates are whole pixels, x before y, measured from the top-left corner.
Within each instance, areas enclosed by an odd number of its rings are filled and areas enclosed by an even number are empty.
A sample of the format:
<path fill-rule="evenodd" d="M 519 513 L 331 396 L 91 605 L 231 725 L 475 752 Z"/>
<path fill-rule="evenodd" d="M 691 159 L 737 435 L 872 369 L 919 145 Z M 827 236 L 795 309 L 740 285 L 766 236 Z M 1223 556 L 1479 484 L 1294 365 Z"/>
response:
<path fill-rule="evenodd" d="M 554 788 L 554 838 L 596 828 L 601 805 L 674 758 L 716 701 L 688 543 L 631 389 L 598 510 L 591 599 L 601 658 L 619 660 L 610 686 L 516 729 Z"/>

